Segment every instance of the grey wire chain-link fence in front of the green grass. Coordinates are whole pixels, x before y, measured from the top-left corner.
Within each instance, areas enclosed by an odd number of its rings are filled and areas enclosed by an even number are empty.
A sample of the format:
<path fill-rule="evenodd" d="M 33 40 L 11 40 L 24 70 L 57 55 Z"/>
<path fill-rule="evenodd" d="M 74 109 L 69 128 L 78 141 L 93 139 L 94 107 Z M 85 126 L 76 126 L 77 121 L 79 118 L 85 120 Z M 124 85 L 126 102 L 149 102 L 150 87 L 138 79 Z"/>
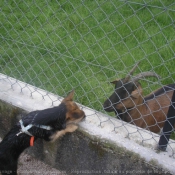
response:
<path fill-rule="evenodd" d="M 149 71 L 161 76 L 138 81 L 144 96 L 174 83 L 172 0 L 3 0 L 0 4 L 2 74 L 60 96 L 75 89 L 76 102 L 103 113 L 105 100 L 114 92 L 109 82 L 126 77 L 138 61 L 134 75 Z M 124 82 L 121 87 L 131 97 Z M 166 98 L 171 100 L 173 90 L 174 86 Z M 112 106 L 112 100 L 109 103 Z M 139 126 L 132 115 L 130 119 L 120 115 L 135 107 L 122 105 L 122 110 L 114 105 L 107 114 Z M 147 124 L 143 128 L 150 130 Z"/>

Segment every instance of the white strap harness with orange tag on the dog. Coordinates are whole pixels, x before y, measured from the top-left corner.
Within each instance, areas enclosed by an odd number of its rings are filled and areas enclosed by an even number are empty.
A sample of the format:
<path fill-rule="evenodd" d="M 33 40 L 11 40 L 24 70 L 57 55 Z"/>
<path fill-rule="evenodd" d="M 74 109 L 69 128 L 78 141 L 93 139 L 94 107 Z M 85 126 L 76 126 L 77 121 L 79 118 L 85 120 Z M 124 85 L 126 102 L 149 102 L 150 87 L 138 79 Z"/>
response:
<path fill-rule="evenodd" d="M 35 127 L 38 127 L 38 128 L 41 128 L 41 129 L 45 129 L 45 130 L 51 130 L 52 129 L 52 127 L 50 127 L 50 126 L 36 125 L 36 124 L 29 124 L 27 126 L 24 126 L 22 120 L 20 120 L 19 123 L 21 125 L 21 129 L 20 129 L 20 132 L 16 134 L 16 136 L 19 136 L 22 133 L 25 133 L 25 134 L 31 136 L 31 138 L 30 138 L 30 146 L 33 146 L 33 143 L 34 143 L 34 136 L 28 131 L 30 128 L 35 126 Z"/>

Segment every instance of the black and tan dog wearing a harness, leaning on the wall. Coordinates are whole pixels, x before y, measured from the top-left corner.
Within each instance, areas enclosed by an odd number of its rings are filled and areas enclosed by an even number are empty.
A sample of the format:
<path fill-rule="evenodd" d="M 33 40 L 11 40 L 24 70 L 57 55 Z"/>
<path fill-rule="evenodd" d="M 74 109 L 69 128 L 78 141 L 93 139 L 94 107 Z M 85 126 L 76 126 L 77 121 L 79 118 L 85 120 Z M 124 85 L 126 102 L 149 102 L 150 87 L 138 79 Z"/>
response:
<path fill-rule="evenodd" d="M 0 173 L 16 175 L 20 154 L 37 138 L 55 141 L 78 128 L 76 123 L 85 113 L 73 102 L 73 95 L 74 91 L 58 107 L 30 112 L 7 133 L 0 143 Z"/>

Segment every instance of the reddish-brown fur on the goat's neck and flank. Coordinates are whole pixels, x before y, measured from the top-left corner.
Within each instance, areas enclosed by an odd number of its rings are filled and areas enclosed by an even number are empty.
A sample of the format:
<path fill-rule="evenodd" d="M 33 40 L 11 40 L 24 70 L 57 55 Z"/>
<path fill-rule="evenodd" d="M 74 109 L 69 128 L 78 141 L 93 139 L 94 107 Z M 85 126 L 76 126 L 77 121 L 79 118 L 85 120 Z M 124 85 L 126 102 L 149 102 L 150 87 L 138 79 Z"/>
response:
<path fill-rule="evenodd" d="M 149 100 L 146 104 L 140 95 L 139 98 L 136 99 L 136 105 L 130 105 L 133 109 L 129 111 L 131 117 L 126 114 L 127 122 L 131 122 L 136 126 L 148 129 L 152 132 L 159 133 L 164 126 L 172 94 L 173 91 L 168 92 L 160 97 Z"/>

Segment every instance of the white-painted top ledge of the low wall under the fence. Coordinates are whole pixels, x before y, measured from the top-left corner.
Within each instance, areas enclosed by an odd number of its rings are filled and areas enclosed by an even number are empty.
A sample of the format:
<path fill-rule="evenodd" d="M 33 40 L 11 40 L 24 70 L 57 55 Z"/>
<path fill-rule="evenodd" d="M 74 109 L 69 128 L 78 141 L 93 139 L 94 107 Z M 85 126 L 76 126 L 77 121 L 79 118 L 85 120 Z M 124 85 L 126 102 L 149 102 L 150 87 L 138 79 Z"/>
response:
<path fill-rule="evenodd" d="M 62 100 L 62 97 L 3 74 L 0 74 L 0 89 L 1 100 L 29 112 L 56 106 Z M 167 152 L 157 153 L 154 147 L 158 142 L 159 135 L 121 122 L 88 107 L 82 106 L 82 108 L 87 118 L 79 125 L 79 131 L 90 137 L 95 137 L 102 143 L 110 143 L 136 153 L 146 162 L 154 162 L 153 165 L 175 174 L 175 161 L 171 157 L 172 151 L 175 150 L 174 141 L 170 141 L 171 144 Z M 129 134 L 129 138 L 128 132 L 132 133 Z M 142 142 L 143 138 L 144 142 Z"/>

